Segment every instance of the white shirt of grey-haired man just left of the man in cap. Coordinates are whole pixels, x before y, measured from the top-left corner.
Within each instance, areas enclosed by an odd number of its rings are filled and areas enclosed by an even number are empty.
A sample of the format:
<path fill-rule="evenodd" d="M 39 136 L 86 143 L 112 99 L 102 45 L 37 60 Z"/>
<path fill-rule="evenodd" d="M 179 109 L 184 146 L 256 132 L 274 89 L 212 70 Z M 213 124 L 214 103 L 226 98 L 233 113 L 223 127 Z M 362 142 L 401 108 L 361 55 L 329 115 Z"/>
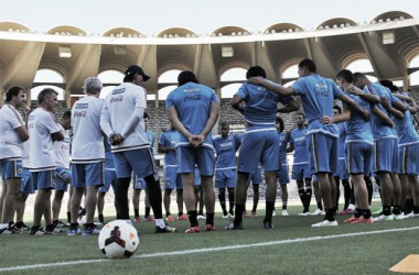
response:
<path fill-rule="evenodd" d="M 103 99 L 88 96 L 77 100 L 72 108 L 73 143 L 72 163 L 105 161 L 104 135 L 100 130 Z"/>

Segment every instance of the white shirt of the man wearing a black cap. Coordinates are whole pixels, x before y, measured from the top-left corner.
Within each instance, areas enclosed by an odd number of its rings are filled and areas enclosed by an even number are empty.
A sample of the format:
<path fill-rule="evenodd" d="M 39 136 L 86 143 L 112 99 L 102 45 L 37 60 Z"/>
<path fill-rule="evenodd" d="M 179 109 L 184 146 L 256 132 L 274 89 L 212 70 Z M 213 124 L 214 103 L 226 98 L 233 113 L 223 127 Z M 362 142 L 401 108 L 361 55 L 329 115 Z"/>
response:
<path fill-rule="evenodd" d="M 116 87 L 105 99 L 105 108 L 101 118 L 101 125 L 104 132 L 109 135 L 107 128 L 111 128 L 114 133 L 121 133 L 128 124 L 128 121 L 136 111 L 136 108 L 143 108 L 147 110 L 146 90 L 131 82 L 123 82 Z M 133 131 L 117 146 L 112 146 L 112 152 L 122 152 L 130 150 L 138 150 L 142 147 L 150 147 L 149 140 L 146 134 L 144 120 L 141 118 L 140 122 Z"/>

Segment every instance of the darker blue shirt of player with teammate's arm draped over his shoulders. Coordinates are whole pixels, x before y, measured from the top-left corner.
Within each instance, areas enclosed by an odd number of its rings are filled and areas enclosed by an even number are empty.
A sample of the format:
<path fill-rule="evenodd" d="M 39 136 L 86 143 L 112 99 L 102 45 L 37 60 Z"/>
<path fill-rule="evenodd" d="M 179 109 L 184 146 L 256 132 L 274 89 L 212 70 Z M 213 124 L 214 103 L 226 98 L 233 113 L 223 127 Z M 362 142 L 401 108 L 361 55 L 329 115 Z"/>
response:
<path fill-rule="evenodd" d="M 245 82 L 235 96 L 241 98 L 246 106 L 245 119 L 248 127 L 273 127 L 277 116 L 277 105 L 287 105 L 292 100 L 291 97 L 280 97 L 273 91 L 256 84 Z"/>

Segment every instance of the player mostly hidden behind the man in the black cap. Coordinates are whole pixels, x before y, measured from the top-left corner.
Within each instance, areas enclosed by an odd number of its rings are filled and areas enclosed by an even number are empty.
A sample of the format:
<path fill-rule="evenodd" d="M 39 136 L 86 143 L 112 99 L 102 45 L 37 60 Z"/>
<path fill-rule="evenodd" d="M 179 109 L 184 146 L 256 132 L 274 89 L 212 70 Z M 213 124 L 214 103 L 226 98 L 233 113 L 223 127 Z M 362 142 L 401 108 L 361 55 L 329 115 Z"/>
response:
<path fill-rule="evenodd" d="M 150 116 L 147 112 L 144 112 L 143 120 L 144 120 L 147 139 L 148 139 L 148 141 L 150 143 L 151 152 L 152 152 L 153 147 L 154 147 L 154 133 L 151 130 L 149 130 Z M 154 221 L 154 219 L 150 215 L 150 210 L 151 210 L 151 208 L 150 208 L 150 199 L 149 199 L 149 191 L 147 189 L 146 180 L 143 178 L 137 177 L 135 175 L 135 173 L 132 174 L 131 180 L 132 180 L 132 189 L 133 189 L 133 193 L 132 193 L 132 207 L 133 207 L 135 221 L 136 222 L 141 222 L 141 217 L 140 217 L 140 195 L 141 195 L 141 190 L 146 190 L 146 195 L 144 195 L 144 205 L 146 205 L 144 221 Z"/>

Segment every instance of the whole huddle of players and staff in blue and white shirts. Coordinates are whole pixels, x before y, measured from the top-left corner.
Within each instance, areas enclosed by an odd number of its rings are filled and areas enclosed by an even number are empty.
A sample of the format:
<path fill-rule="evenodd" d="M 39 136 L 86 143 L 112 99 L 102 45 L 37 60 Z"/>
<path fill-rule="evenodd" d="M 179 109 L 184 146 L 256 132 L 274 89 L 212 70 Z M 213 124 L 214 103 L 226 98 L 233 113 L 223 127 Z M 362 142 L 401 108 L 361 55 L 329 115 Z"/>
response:
<path fill-rule="evenodd" d="M 282 215 L 288 216 L 287 152 L 292 151 L 292 178 L 297 180 L 303 206 L 300 215 L 310 213 L 311 182 L 318 202 L 312 215 L 325 215 L 324 220 L 312 227 L 339 224 L 340 180 L 345 190 L 343 213 L 353 213 L 344 222 L 372 223 L 419 217 L 419 135 L 413 128 L 417 106 L 411 96 L 398 91 L 388 80 L 373 84 L 365 75 L 346 69 L 337 74 L 336 85 L 316 74 L 311 59 L 303 59 L 298 73 L 299 79 L 283 87 L 267 80 L 261 67 L 250 67 L 246 75 L 248 80 L 230 101 L 246 120 L 245 133 L 230 134 L 228 123 L 221 122 L 221 136 L 213 138 L 211 132 L 219 112 L 216 94 L 201 85 L 192 72 L 182 72 L 179 87 L 166 99 L 170 128 L 162 131 L 158 145 L 159 153 L 164 154 L 163 198 L 152 152 L 154 136 L 147 129 L 143 82 L 150 76 L 141 67 L 129 66 L 123 82 L 105 100 L 99 99 L 100 80 L 87 78 L 86 97 L 64 113 L 61 123 L 52 114 L 57 105 L 54 89 L 42 90 L 36 109 L 31 110 L 24 105 L 24 89 L 10 88 L 6 92 L 6 105 L 0 109 L 0 233 L 60 232 L 65 226 L 58 220 L 60 209 L 68 186 L 68 235 L 100 232 L 104 197 L 110 186 L 115 190 L 117 219 L 131 223 L 128 204 L 131 184 L 135 221 L 141 221 L 139 196 L 146 190 L 144 220 L 155 222 L 157 233 L 176 231 L 168 224 L 174 220 L 170 199 L 176 189 L 178 219 L 190 221 L 185 232 L 200 232 L 200 218 L 205 219 L 205 231 L 214 231 L 214 175 L 223 217 L 233 220 L 225 229 L 239 230 L 244 228 L 243 217 L 247 216 L 248 184 L 261 182 L 257 179 L 261 178 L 258 176 L 260 167 L 266 180 L 262 227 L 272 229 L 278 182 Z M 299 109 L 292 96 L 300 97 L 304 112 L 296 116 L 298 128 L 286 133 L 278 113 Z M 334 105 L 336 99 L 342 101 L 343 109 Z M 24 109 L 25 120 L 17 111 L 20 107 Z M 374 219 L 369 208 L 372 177 L 379 183 L 383 205 L 382 213 Z M 29 228 L 23 222 L 24 205 L 28 195 L 35 190 L 33 224 Z M 254 193 L 251 216 L 256 217 L 257 185 Z M 77 218 L 83 196 L 85 221 L 80 230 Z M 187 216 L 183 212 L 183 202 Z M 96 208 L 99 222 L 94 222 Z M 150 216 L 151 209 L 154 219 Z M 42 217 L 45 228 L 41 227 Z"/>

